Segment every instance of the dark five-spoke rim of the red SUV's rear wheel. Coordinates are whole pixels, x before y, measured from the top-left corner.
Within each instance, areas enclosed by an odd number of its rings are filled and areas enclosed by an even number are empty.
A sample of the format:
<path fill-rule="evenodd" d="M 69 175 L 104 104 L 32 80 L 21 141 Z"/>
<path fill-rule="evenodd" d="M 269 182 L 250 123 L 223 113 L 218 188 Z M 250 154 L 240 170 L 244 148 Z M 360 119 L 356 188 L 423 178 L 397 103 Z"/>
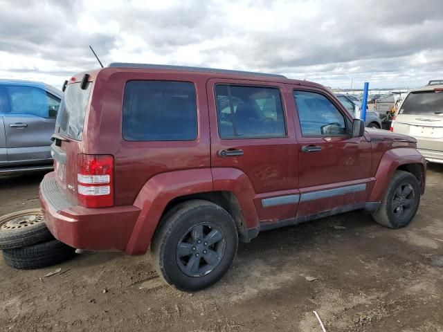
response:
<path fill-rule="evenodd" d="M 183 234 L 177 245 L 177 265 L 189 277 L 202 277 L 219 266 L 225 249 L 226 237 L 219 226 L 197 223 Z"/>

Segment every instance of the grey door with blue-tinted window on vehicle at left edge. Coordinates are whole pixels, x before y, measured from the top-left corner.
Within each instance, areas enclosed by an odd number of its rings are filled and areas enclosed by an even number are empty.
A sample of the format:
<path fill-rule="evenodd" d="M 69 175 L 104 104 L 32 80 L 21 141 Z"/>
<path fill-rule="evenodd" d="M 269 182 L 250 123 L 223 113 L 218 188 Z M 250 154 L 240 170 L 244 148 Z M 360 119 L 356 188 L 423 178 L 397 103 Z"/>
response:
<path fill-rule="evenodd" d="M 51 135 L 60 100 L 37 86 L 3 86 L 9 111 L 3 114 L 8 164 L 51 163 Z"/>

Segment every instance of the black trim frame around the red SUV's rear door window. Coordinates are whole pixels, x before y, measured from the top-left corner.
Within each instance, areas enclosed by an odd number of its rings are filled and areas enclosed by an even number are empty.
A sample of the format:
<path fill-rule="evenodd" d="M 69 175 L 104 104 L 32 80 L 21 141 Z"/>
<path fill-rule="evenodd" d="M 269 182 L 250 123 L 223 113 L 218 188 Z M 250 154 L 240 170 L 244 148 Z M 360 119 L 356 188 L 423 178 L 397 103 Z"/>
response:
<path fill-rule="evenodd" d="M 278 90 L 278 94 L 280 95 L 280 104 L 282 105 L 282 114 L 283 114 L 283 124 L 284 124 L 284 136 L 254 136 L 254 137 L 242 137 L 242 136 L 237 136 L 237 137 L 232 137 L 232 138 L 222 138 L 220 136 L 220 121 L 219 121 L 219 111 L 217 109 L 217 93 L 216 93 L 216 89 L 217 86 L 227 86 L 228 87 L 228 97 L 229 97 L 229 105 L 230 105 L 230 111 L 232 114 L 233 111 L 233 105 L 232 105 L 232 98 L 231 98 L 231 93 L 230 93 L 230 86 L 241 86 L 241 87 L 251 87 L 251 88 L 263 88 L 263 89 L 277 89 Z M 220 83 L 215 83 L 213 84 L 213 97 L 214 97 L 214 102 L 215 102 L 215 118 L 217 119 L 217 137 L 219 138 L 219 140 L 269 140 L 269 139 L 274 139 L 274 138 L 288 138 L 288 129 L 287 129 L 287 111 L 286 108 L 284 107 L 284 99 L 283 99 L 283 95 L 282 95 L 282 91 L 280 89 L 280 86 L 275 86 L 275 85 L 264 85 L 264 84 L 242 84 L 242 83 L 230 83 L 230 82 L 220 82 Z M 233 124 L 233 127 L 235 127 L 235 125 Z"/>

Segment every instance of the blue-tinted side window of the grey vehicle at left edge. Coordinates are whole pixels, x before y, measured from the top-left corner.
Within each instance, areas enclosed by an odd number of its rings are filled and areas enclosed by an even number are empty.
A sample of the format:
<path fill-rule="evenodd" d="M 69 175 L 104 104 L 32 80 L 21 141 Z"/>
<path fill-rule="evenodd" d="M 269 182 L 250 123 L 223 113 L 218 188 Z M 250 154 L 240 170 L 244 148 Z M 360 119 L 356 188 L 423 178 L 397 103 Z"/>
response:
<path fill-rule="evenodd" d="M 34 86 L 0 87 L 0 113 L 55 118 L 60 98 L 50 100 L 44 89 Z M 55 98 L 55 97 L 53 97 Z"/>

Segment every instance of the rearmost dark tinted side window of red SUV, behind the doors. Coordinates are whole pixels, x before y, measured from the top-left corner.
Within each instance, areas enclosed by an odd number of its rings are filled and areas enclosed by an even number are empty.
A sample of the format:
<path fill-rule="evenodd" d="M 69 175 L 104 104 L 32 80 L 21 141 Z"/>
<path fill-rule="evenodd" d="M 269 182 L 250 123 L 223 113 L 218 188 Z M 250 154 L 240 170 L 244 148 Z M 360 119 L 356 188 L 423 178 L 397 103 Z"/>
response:
<path fill-rule="evenodd" d="M 197 100 L 188 82 L 131 81 L 123 98 L 123 138 L 195 140 Z"/>

